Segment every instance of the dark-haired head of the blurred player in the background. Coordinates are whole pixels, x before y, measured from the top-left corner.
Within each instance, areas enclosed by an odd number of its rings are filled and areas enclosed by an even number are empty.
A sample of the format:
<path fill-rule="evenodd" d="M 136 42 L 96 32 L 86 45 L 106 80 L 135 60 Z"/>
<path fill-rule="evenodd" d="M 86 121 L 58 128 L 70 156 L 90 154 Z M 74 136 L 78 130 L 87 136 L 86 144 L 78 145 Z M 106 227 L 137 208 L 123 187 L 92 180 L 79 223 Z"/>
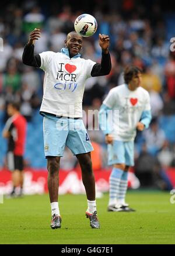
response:
<path fill-rule="evenodd" d="M 132 88 L 137 88 L 141 85 L 141 70 L 134 66 L 128 66 L 124 70 L 124 80 L 126 84 L 131 84 Z"/>

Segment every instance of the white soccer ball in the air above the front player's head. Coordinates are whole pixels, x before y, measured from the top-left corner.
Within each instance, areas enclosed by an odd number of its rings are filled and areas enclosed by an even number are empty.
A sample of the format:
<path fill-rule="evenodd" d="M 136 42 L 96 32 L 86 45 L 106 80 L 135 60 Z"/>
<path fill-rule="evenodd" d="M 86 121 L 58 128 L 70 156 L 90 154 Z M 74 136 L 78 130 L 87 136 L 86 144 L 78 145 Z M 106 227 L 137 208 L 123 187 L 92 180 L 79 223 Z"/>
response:
<path fill-rule="evenodd" d="M 92 36 L 97 31 L 97 21 L 92 15 L 85 13 L 76 18 L 74 27 L 81 36 Z"/>

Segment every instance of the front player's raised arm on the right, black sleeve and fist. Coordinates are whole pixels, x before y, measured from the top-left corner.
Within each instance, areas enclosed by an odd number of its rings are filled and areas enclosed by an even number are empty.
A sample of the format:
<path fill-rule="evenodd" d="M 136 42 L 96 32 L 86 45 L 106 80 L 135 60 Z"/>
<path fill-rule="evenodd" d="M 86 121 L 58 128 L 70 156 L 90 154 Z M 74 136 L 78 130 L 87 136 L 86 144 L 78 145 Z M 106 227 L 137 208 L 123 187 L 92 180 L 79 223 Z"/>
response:
<path fill-rule="evenodd" d="M 101 63 L 93 66 L 92 77 L 99 77 L 101 75 L 108 75 L 111 71 L 111 57 L 108 51 L 110 45 L 110 38 L 106 34 L 99 34 L 99 45 L 101 47 Z"/>

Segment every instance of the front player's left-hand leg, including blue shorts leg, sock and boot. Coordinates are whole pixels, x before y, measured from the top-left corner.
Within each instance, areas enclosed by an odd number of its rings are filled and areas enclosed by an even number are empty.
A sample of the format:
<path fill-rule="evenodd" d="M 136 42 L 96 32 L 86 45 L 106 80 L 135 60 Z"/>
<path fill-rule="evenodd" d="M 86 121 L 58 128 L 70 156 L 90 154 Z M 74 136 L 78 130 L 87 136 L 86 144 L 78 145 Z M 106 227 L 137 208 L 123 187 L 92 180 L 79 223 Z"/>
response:
<path fill-rule="evenodd" d="M 44 153 L 47 158 L 48 191 L 51 203 L 51 228 L 61 227 L 60 209 L 58 206 L 58 182 L 60 157 L 63 155 L 68 135 L 66 119 L 44 117 Z"/>

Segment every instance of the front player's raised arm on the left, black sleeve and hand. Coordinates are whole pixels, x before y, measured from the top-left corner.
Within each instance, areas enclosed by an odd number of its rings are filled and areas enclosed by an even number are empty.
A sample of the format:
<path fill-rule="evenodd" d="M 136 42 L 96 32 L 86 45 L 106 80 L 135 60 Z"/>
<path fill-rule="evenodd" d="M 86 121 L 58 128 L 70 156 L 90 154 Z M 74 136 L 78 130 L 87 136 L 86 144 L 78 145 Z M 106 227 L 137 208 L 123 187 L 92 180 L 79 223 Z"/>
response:
<path fill-rule="evenodd" d="M 41 57 L 39 54 L 34 56 L 34 40 L 40 38 L 40 29 L 34 29 L 29 36 L 29 41 L 24 47 L 22 60 L 23 63 L 31 67 L 41 67 Z"/>

